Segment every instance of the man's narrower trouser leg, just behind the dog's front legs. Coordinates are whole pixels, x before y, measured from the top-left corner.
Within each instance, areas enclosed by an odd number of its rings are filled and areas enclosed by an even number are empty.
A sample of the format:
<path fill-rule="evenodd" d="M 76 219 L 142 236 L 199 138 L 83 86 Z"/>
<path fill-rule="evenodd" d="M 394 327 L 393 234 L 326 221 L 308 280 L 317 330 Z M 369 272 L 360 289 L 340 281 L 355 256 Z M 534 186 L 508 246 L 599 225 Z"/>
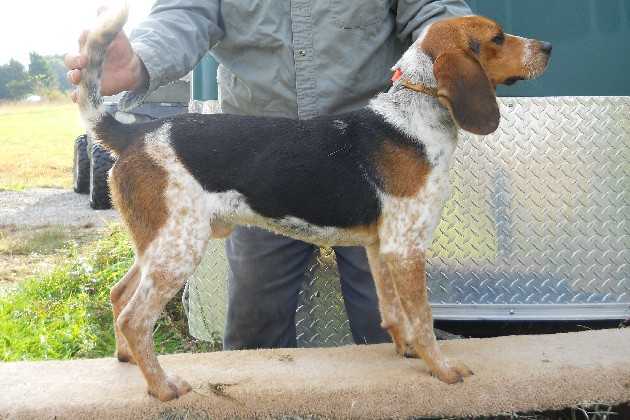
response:
<path fill-rule="evenodd" d="M 391 342 L 389 334 L 381 327 L 376 288 L 365 249 L 338 246 L 334 250 L 341 276 L 341 292 L 354 342 L 357 344 Z"/>

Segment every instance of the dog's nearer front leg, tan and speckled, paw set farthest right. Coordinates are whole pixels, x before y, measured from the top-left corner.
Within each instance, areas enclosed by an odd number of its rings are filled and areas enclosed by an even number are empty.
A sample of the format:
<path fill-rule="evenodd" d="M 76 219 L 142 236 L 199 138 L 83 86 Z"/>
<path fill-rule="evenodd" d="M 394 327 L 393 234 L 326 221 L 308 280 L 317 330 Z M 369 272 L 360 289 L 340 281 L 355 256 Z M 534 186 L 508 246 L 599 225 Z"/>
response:
<path fill-rule="evenodd" d="M 452 384 L 471 375 L 472 371 L 464 364 L 446 358 L 435 339 L 424 253 L 387 253 L 381 254 L 380 260 L 400 299 L 406 342 L 441 381 Z"/>

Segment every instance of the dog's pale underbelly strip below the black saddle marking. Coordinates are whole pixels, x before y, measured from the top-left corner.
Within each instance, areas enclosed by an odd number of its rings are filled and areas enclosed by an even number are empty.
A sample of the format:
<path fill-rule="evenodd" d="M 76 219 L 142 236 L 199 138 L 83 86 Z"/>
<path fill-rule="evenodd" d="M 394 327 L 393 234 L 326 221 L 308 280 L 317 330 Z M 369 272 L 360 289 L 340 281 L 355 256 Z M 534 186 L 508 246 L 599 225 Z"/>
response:
<path fill-rule="evenodd" d="M 214 225 L 258 226 L 274 233 L 320 246 L 369 245 L 376 238 L 374 226 L 318 226 L 299 217 L 270 218 L 254 211 L 237 191 L 206 193 L 208 214 Z"/>

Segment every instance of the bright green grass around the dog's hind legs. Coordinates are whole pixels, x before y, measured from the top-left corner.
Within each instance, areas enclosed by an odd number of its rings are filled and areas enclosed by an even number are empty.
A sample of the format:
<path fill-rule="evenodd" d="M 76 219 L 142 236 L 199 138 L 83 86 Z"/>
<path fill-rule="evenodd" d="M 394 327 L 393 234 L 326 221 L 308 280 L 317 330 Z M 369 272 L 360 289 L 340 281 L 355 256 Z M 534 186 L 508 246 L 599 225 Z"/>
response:
<path fill-rule="evenodd" d="M 115 349 L 109 289 L 128 270 L 133 252 L 125 233 L 112 226 L 93 250 L 66 249 L 67 262 L 27 279 L 0 296 L 0 360 L 111 356 Z M 210 351 L 187 334 L 181 299 L 167 306 L 154 330 L 158 353 Z"/>

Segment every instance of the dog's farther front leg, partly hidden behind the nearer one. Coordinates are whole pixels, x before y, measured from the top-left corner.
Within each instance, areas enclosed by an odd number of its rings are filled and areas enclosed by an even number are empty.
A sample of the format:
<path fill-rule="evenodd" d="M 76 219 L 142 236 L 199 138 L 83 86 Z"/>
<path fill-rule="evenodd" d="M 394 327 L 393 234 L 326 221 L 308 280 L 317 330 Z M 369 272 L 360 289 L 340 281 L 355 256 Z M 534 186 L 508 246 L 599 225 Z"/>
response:
<path fill-rule="evenodd" d="M 406 350 L 404 331 L 402 330 L 402 311 L 400 299 L 396 294 L 393 279 L 389 278 L 379 253 L 378 243 L 366 247 L 370 271 L 374 278 L 378 307 L 381 313 L 381 326 L 387 330 L 396 346 L 396 352 L 403 356 Z"/>

